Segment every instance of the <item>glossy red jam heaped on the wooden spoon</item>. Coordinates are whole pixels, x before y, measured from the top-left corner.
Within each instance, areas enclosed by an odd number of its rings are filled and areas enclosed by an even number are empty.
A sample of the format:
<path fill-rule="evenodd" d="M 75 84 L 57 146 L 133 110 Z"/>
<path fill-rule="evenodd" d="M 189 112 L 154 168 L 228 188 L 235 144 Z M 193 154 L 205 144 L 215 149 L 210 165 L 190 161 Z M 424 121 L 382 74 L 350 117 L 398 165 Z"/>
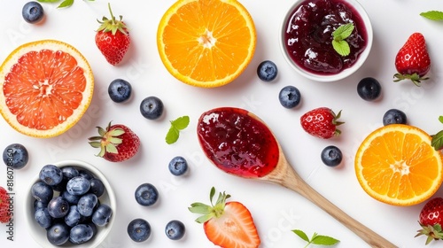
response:
<path fill-rule="evenodd" d="M 278 145 L 269 128 L 243 109 L 223 107 L 198 120 L 198 141 L 216 167 L 246 178 L 270 173 L 278 162 Z"/>

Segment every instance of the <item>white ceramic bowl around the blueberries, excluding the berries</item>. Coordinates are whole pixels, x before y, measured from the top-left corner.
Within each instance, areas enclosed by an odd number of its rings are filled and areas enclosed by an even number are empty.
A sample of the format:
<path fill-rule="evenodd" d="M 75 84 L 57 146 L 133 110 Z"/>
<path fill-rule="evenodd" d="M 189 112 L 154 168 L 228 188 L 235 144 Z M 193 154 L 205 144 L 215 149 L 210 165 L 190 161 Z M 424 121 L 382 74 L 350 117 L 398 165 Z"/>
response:
<path fill-rule="evenodd" d="M 27 221 L 27 227 L 28 231 L 31 234 L 31 236 L 35 239 L 35 242 L 40 244 L 42 247 L 76 247 L 76 248 L 83 248 L 83 247 L 97 247 L 99 244 L 101 244 L 106 236 L 108 236 L 109 232 L 113 228 L 113 223 L 115 220 L 115 213 L 117 211 L 116 207 L 116 200 L 115 195 L 113 192 L 113 188 L 105 178 L 105 175 L 102 174 L 96 167 L 93 167 L 92 165 L 79 161 L 79 160 L 64 160 L 59 161 L 57 163 L 54 163 L 53 165 L 57 167 L 66 167 L 66 166 L 74 166 L 76 168 L 85 169 L 88 170 L 91 174 L 93 174 L 95 177 L 100 179 L 103 184 L 105 185 L 105 192 L 104 194 L 99 198 L 101 204 L 107 204 L 113 209 L 113 216 L 111 217 L 109 223 L 107 223 L 104 227 L 97 227 L 97 235 L 92 237 L 91 240 L 84 244 L 71 244 L 67 242 L 66 244 L 63 244 L 61 246 L 55 246 L 51 244 L 48 239 L 46 238 L 46 230 L 43 229 L 34 218 L 34 201 L 35 199 L 31 195 L 31 188 L 32 185 L 34 185 L 35 182 L 39 181 L 38 174 L 35 175 L 35 178 L 29 183 L 29 187 L 27 189 L 27 198 L 25 199 L 25 218 Z M 54 194 L 55 195 L 55 194 Z"/>

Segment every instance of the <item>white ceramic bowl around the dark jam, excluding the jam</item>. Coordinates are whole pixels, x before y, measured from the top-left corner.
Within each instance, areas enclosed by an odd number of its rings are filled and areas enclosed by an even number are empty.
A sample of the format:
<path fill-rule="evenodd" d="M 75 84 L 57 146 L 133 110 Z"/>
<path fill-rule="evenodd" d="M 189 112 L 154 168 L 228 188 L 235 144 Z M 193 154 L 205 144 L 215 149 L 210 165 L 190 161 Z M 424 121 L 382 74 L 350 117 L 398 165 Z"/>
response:
<path fill-rule="evenodd" d="M 285 41 L 284 41 L 284 33 L 286 29 L 286 22 L 288 19 L 291 18 L 291 13 L 304 2 L 305 0 L 296 0 L 294 4 L 291 5 L 291 8 L 284 16 L 284 19 L 282 21 L 282 26 L 280 29 L 280 47 L 283 52 L 284 58 L 289 63 L 289 65 L 297 71 L 299 74 L 303 75 L 304 77 L 314 80 L 314 81 L 338 81 L 341 79 L 346 78 L 347 76 L 354 74 L 364 63 L 366 58 L 369 56 L 369 51 L 372 47 L 372 40 L 373 40 L 373 33 L 372 33 L 372 25 L 370 23 L 370 19 L 368 16 L 368 13 L 363 9 L 361 4 L 357 2 L 356 0 L 346 0 L 346 3 L 353 6 L 354 10 L 358 12 L 361 16 L 361 19 L 364 22 L 364 25 L 366 27 L 366 32 L 368 36 L 368 43 L 365 48 L 365 50 L 360 54 L 357 61 L 355 61 L 354 65 L 346 68 L 345 70 L 341 71 L 338 74 L 314 74 L 311 72 L 308 72 L 305 68 L 299 66 L 297 63 L 295 63 L 292 58 L 289 56 L 288 51 L 285 47 Z M 344 0 L 345 1 L 345 0 Z"/>

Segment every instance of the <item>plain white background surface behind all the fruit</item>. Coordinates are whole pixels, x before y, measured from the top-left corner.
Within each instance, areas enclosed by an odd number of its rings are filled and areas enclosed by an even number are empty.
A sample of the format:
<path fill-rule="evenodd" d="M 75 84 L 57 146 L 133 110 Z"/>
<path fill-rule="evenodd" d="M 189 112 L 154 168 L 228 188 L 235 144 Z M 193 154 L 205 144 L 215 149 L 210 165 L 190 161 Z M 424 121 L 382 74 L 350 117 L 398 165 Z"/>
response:
<path fill-rule="evenodd" d="M 354 154 L 362 139 L 382 125 L 383 114 L 398 108 L 408 115 L 408 122 L 434 134 L 443 128 L 438 117 L 441 107 L 441 69 L 443 54 L 440 50 L 443 22 L 419 16 L 420 12 L 443 11 L 439 0 L 361 0 L 369 13 L 374 29 L 374 43 L 366 63 L 346 80 L 316 82 L 302 78 L 285 62 L 279 48 L 278 37 L 285 13 L 292 1 L 243 0 L 242 4 L 253 16 L 257 29 L 257 48 L 254 58 L 236 81 L 217 89 L 199 89 L 175 80 L 162 65 L 156 44 L 159 19 L 173 4 L 161 1 L 109 1 L 115 15 L 123 15 L 130 28 L 131 47 L 120 66 L 110 66 L 94 43 L 97 19 L 108 15 L 107 2 L 76 0 L 67 9 L 43 4 L 46 20 L 41 25 L 27 24 L 21 17 L 21 8 L 27 1 L 1 0 L 0 8 L 0 60 L 22 43 L 40 39 L 58 39 L 71 43 L 89 60 L 95 74 L 95 93 L 88 112 L 82 120 L 65 134 L 36 139 L 20 135 L 0 120 L 0 148 L 10 143 L 24 144 L 30 160 L 27 167 L 14 172 L 14 241 L 6 239 L 6 227 L 0 227 L 2 247 L 37 247 L 28 235 L 23 217 L 23 202 L 29 180 L 45 164 L 64 159 L 82 159 L 102 171 L 118 199 L 117 220 L 102 247 L 213 247 L 194 221 L 196 214 L 187 207 L 196 201 L 208 202 L 209 190 L 225 190 L 232 200 L 245 204 L 255 220 L 262 245 L 260 247 L 302 247 L 304 242 L 291 233 L 303 229 L 311 236 L 314 232 L 334 236 L 341 242 L 335 247 L 367 247 L 358 236 L 342 226 L 327 213 L 283 187 L 266 182 L 248 181 L 224 174 L 212 166 L 198 146 L 196 124 L 199 115 L 219 106 L 237 106 L 254 112 L 268 123 L 279 139 L 287 159 L 299 174 L 325 198 L 370 229 L 385 236 L 399 247 L 424 247 L 424 237 L 417 237 L 418 213 L 424 204 L 409 207 L 385 205 L 370 198 L 356 180 Z M 394 58 L 408 35 L 421 32 L 431 53 L 431 79 L 417 88 L 408 81 L 393 82 Z M 276 63 L 279 74 L 276 81 L 263 82 L 256 68 L 265 59 Z M 383 87 L 377 102 L 363 101 L 356 91 L 361 78 L 375 77 Z M 116 78 L 132 83 L 134 95 L 125 104 L 115 104 L 107 96 L 108 84 Z M 288 110 L 278 103 L 278 92 L 286 85 L 294 85 L 302 94 L 299 107 Z M 156 96 L 163 100 L 165 112 L 159 120 L 145 120 L 139 112 L 144 97 Z M 308 136 L 299 125 L 299 117 L 315 107 L 327 106 L 342 110 L 340 128 L 342 136 L 321 140 Z M 169 120 L 190 116 L 190 126 L 177 143 L 168 145 L 164 138 Z M 99 159 L 96 150 L 89 147 L 87 138 L 96 135 L 96 126 L 113 123 L 127 124 L 141 137 L 142 146 L 136 158 L 115 164 Z M 322 164 L 320 152 L 335 144 L 344 153 L 340 167 Z M 190 173 L 175 177 L 167 170 L 173 157 L 188 159 Z M 159 203 L 152 207 L 137 205 L 134 190 L 144 182 L 151 182 L 159 190 Z M 6 184 L 6 167 L 0 169 L 0 185 Z M 439 190 L 436 196 L 443 196 Z M 142 244 L 130 240 L 126 229 L 129 221 L 144 218 L 152 226 L 152 236 Z M 186 226 L 186 236 L 171 241 L 164 234 L 170 220 L 178 219 Z M 427 247 L 439 247 L 442 243 Z"/>

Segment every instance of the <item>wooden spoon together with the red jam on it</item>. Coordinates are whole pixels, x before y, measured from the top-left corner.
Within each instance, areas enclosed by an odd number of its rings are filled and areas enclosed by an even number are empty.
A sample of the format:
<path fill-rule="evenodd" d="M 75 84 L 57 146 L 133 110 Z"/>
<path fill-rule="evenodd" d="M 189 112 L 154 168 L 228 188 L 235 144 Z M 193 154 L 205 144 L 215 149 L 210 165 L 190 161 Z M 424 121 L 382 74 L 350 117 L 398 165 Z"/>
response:
<path fill-rule="evenodd" d="M 371 247 L 397 247 L 311 188 L 287 162 L 272 131 L 252 112 L 233 107 L 204 112 L 198 120 L 197 134 L 206 157 L 224 172 L 294 190 L 330 213 Z"/>

